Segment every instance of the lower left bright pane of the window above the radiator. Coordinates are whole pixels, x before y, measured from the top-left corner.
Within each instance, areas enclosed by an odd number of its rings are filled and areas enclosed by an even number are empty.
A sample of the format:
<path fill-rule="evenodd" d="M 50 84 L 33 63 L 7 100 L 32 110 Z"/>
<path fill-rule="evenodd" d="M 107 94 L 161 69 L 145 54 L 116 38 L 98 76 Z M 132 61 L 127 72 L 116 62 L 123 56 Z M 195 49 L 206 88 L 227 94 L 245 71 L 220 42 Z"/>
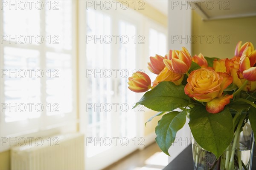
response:
<path fill-rule="evenodd" d="M 40 81 L 37 50 L 4 47 L 4 99 L 8 105 L 5 121 L 38 118 L 41 114 Z M 35 106 L 38 106 L 35 107 Z M 13 108 L 15 107 L 15 108 Z M 30 109 L 31 108 L 31 109 Z"/>

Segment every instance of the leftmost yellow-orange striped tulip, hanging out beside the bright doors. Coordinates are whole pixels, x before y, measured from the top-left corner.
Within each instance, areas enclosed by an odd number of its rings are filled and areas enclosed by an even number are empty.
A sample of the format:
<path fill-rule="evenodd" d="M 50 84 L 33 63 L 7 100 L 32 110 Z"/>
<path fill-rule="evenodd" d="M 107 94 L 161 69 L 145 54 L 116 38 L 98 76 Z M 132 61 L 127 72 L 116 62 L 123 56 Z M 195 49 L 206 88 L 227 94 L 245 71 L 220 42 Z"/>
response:
<path fill-rule="evenodd" d="M 135 72 L 128 80 L 128 88 L 133 92 L 146 92 L 151 89 L 151 80 L 144 72 Z"/>

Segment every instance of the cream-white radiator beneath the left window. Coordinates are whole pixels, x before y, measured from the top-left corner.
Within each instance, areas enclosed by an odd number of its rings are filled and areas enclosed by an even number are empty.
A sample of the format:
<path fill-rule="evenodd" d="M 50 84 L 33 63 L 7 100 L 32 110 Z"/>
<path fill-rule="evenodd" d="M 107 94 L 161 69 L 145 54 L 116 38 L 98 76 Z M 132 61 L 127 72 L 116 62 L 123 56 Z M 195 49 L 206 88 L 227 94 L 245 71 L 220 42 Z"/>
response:
<path fill-rule="evenodd" d="M 84 135 L 71 133 L 35 139 L 25 146 L 12 147 L 12 170 L 84 169 Z"/>

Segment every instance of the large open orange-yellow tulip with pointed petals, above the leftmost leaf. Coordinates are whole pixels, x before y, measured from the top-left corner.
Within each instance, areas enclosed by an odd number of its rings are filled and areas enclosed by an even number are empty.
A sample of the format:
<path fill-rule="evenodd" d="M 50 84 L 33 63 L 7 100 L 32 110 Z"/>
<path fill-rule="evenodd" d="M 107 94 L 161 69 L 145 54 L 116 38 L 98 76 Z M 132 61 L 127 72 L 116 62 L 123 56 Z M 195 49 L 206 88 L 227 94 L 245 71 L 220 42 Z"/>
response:
<path fill-rule="evenodd" d="M 169 55 L 166 57 L 169 59 L 164 59 L 163 63 L 170 71 L 176 74 L 185 74 L 189 71 L 192 59 L 185 47 L 182 47 L 181 51 L 173 50 L 171 56 L 169 51 Z"/>

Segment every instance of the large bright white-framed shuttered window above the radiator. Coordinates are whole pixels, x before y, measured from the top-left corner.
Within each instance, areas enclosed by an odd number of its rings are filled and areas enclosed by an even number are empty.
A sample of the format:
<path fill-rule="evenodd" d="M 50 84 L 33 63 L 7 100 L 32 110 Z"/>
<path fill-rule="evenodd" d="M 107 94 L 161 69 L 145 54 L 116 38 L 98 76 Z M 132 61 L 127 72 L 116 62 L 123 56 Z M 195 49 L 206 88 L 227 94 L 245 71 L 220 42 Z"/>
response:
<path fill-rule="evenodd" d="M 1 137 L 76 119 L 74 3 L 22 2 L 26 7 L 8 1 L 0 11 Z"/>

